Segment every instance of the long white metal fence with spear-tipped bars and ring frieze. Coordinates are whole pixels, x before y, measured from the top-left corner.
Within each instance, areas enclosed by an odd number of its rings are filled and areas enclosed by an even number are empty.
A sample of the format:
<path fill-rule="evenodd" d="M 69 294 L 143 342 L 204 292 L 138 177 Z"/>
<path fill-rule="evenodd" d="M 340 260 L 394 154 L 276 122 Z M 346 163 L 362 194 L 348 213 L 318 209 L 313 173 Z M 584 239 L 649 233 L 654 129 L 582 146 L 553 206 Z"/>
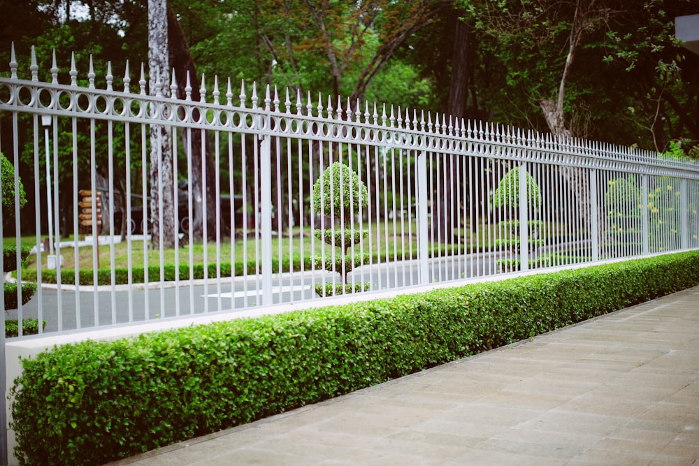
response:
<path fill-rule="evenodd" d="M 38 69 L 32 57 L 21 78 L 13 50 L 0 78 L 0 125 L 13 134 L 0 147 L 34 173 L 24 180 L 29 203 L 20 209 L 17 195 L 0 207 L 0 236 L 18 263 L 20 238 L 40 252 L 0 282 L 38 283 L 24 304 L 17 286 L 8 315 L 47 321 L 41 331 L 699 247 L 696 162 L 289 89 L 243 83 L 234 95 L 230 80 L 208 92 L 202 77 L 195 102 L 147 95 L 143 69 L 132 85 L 127 67 L 122 90 L 110 70 L 96 78 L 92 63 L 87 87 L 74 64 L 68 85 L 55 62 L 51 82 Z M 152 128 L 171 131 L 178 181 L 159 186 L 157 205 L 145 201 Z M 8 183 L 17 192 L 16 175 L 1 180 L 3 192 Z M 101 191 L 108 213 L 102 236 L 78 247 L 81 223 L 99 207 L 81 190 Z M 151 249 L 168 191 L 180 241 Z M 45 233 L 55 251 L 41 253 Z"/>

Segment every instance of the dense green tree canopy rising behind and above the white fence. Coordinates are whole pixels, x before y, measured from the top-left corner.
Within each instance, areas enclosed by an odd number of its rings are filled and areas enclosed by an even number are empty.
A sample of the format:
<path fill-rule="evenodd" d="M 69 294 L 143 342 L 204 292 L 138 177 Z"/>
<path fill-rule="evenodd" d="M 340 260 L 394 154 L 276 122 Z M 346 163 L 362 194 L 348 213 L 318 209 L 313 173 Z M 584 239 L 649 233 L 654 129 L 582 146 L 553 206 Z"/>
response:
<path fill-rule="evenodd" d="M 323 94 L 324 105 L 325 96 L 333 106 L 338 98 L 343 106 L 348 97 L 352 105 L 366 99 L 538 131 L 554 131 L 542 105 L 551 102 L 573 136 L 658 152 L 675 141 L 685 154 L 699 154 L 699 56 L 674 36 L 675 17 L 699 13 L 696 1 L 168 0 L 168 7 L 182 50 L 209 83 L 217 74 L 219 82 L 310 92 L 314 101 Z M 71 52 L 79 80 L 92 54 L 97 87 L 107 61 L 115 89 L 127 59 L 132 80 L 147 64 L 147 0 L 0 0 L 0 8 L 12 11 L 0 16 L 0 61 L 10 61 L 14 41 L 24 76 L 31 45 L 43 80 L 50 80 L 52 50 L 60 82 L 69 82 Z M 9 154 L 7 118 L 0 115 L 0 150 Z M 59 124 L 59 138 L 70 133 Z M 24 147 L 27 136 L 19 137 Z M 106 143 L 99 128 L 97 138 Z M 72 166 L 69 145 L 59 150 L 59 163 Z M 20 175 L 33 184 L 26 152 Z M 88 168 L 78 160 L 80 173 Z M 59 173 L 68 192 L 71 170 Z"/>

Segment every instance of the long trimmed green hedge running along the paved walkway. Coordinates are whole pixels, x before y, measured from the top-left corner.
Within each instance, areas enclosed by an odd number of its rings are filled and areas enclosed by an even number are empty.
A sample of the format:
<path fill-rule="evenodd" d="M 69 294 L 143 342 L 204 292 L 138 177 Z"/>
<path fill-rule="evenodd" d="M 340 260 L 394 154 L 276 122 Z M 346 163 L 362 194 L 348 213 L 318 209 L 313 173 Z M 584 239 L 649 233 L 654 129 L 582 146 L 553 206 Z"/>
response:
<path fill-rule="evenodd" d="M 81 342 L 22 361 L 23 465 L 99 465 L 699 284 L 699 252 Z"/>

